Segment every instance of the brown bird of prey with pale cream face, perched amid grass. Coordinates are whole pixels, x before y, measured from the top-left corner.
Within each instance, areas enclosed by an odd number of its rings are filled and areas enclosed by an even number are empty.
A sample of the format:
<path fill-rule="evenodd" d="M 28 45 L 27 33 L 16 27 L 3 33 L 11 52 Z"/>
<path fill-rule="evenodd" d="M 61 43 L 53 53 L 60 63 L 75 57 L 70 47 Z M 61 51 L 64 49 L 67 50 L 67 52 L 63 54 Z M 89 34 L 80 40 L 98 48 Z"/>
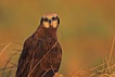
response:
<path fill-rule="evenodd" d="M 42 15 L 37 30 L 24 42 L 16 77 L 54 76 L 60 68 L 62 57 L 62 48 L 56 37 L 59 25 L 58 14 Z"/>

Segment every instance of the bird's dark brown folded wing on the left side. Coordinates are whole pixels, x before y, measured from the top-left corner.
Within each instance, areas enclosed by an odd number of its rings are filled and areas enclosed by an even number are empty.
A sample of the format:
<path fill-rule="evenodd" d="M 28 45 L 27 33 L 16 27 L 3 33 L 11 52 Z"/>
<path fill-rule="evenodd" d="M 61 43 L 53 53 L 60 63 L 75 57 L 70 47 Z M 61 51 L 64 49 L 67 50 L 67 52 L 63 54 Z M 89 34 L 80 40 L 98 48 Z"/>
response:
<path fill-rule="evenodd" d="M 30 72 L 30 66 L 33 63 L 34 53 L 37 51 L 36 49 L 39 49 L 39 46 L 40 46 L 39 40 L 34 38 L 33 36 L 29 37 L 25 41 L 23 51 L 18 59 L 16 77 L 27 77 L 28 76 L 28 73 Z M 38 60 L 40 60 L 40 59 L 38 59 Z"/>

